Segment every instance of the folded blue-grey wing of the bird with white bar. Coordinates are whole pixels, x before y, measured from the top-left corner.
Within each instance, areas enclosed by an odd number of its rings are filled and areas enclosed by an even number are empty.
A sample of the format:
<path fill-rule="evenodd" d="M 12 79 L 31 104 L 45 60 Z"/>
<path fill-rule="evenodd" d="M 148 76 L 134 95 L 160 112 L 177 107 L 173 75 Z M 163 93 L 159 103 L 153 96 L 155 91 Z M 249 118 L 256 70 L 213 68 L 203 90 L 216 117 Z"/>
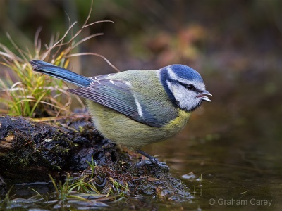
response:
<path fill-rule="evenodd" d="M 146 106 L 135 98 L 130 83 L 121 79 L 107 79 L 109 75 L 91 77 L 93 82 L 89 87 L 68 89 L 69 92 L 90 99 L 103 106 L 123 113 L 131 119 L 152 127 L 161 127 L 166 124 L 163 118 L 152 114 Z"/>

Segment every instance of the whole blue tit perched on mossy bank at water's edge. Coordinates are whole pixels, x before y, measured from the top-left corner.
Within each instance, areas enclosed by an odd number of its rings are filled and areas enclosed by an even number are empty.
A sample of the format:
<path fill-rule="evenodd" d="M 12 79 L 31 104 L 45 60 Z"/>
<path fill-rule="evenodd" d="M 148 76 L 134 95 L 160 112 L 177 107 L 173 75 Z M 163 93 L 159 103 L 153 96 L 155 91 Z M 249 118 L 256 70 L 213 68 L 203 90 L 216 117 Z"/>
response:
<path fill-rule="evenodd" d="M 85 77 L 42 60 L 30 64 L 36 72 L 77 85 L 67 91 L 86 98 L 94 127 L 104 138 L 159 165 L 166 164 L 140 148 L 176 136 L 192 111 L 211 102 L 201 75 L 187 65 Z"/>

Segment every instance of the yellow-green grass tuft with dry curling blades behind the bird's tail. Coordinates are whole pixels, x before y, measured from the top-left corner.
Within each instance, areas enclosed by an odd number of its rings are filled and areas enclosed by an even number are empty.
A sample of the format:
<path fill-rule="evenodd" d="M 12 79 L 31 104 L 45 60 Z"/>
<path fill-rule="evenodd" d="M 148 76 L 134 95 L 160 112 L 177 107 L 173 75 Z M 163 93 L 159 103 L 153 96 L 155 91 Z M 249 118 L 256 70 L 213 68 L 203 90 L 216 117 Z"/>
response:
<path fill-rule="evenodd" d="M 1 113 L 13 116 L 22 115 L 25 117 L 58 117 L 59 115 L 70 113 L 69 108 L 72 98 L 66 91 L 68 89 L 66 84 L 59 79 L 33 72 L 29 61 L 32 59 L 45 60 L 54 65 L 67 68 L 70 58 L 73 56 L 93 55 L 104 58 L 104 56 L 97 53 L 72 53 L 73 49 L 83 42 L 102 35 L 102 33 L 91 34 L 88 37 L 78 39 L 80 33 L 85 28 L 97 23 L 112 23 L 109 20 L 87 23 L 90 13 L 85 23 L 77 32 L 73 32 L 76 22 L 71 23 L 70 21 L 70 26 L 65 34 L 63 34 L 63 37 L 59 39 L 58 34 L 51 36 L 49 44 L 45 44 L 44 49 L 42 49 L 39 39 L 41 29 L 37 30 L 34 49 L 32 49 L 33 53 L 29 49 L 20 49 L 10 35 L 8 33 L 6 34 L 13 48 L 16 49 L 16 53 L 13 53 L 4 44 L 0 44 L 0 64 L 13 72 L 17 82 L 14 82 L 15 80 L 8 73 L 6 73 L 4 79 L 0 79 Z M 69 35 L 71 35 L 71 38 L 67 38 L 70 37 Z M 106 58 L 104 60 L 111 65 L 109 60 Z M 115 68 L 114 65 L 111 65 L 111 67 Z M 78 97 L 77 99 L 80 101 Z M 80 103 L 84 107 L 81 101 Z"/>

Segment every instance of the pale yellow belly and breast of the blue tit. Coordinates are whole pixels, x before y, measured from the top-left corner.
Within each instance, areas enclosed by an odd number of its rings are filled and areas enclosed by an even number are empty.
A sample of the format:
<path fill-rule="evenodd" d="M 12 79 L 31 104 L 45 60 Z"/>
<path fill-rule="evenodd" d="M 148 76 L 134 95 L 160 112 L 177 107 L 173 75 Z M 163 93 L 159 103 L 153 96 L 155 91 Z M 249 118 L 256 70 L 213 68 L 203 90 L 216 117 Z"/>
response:
<path fill-rule="evenodd" d="M 163 127 L 151 127 L 93 101 L 87 100 L 94 126 L 106 138 L 129 148 L 140 148 L 164 141 L 178 134 L 187 123 L 190 113 L 179 110 L 179 115 Z"/>

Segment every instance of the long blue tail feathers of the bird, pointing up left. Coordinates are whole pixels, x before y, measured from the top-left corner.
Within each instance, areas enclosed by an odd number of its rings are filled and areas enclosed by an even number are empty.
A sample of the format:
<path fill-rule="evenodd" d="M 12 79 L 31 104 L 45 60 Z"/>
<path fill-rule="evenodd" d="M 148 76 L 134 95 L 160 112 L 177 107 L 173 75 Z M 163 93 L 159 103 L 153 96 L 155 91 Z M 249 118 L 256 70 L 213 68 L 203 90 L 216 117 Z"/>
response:
<path fill-rule="evenodd" d="M 71 72 L 70 70 L 66 70 L 65 68 L 46 63 L 42 60 L 31 60 L 30 64 L 32 65 L 33 70 L 37 72 L 41 72 L 46 75 L 62 79 L 66 82 L 71 82 L 72 84 L 75 84 L 78 87 L 88 87 L 92 82 L 92 79 L 88 77 L 79 75 L 75 72 Z"/>

